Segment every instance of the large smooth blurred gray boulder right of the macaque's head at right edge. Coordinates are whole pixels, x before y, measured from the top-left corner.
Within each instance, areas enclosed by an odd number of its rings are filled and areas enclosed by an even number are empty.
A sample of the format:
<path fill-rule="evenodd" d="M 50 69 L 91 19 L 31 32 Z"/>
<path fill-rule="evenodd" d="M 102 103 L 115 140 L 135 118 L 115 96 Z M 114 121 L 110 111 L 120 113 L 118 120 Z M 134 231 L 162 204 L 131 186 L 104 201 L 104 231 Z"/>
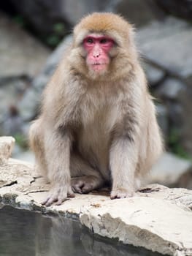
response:
<path fill-rule="evenodd" d="M 145 58 L 192 83 L 192 29 L 184 21 L 166 18 L 139 30 L 137 40 Z"/>

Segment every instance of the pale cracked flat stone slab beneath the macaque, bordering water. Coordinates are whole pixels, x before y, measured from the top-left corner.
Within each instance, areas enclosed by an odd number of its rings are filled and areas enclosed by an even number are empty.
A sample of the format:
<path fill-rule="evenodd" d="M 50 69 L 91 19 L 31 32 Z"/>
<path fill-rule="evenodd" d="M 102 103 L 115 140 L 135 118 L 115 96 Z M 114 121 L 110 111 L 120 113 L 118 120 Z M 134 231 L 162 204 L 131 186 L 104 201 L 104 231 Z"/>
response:
<path fill-rule="evenodd" d="M 192 255 L 192 191 L 153 184 L 137 196 L 110 200 L 108 189 L 76 195 L 61 206 L 45 207 L 50 189 L 33 165 L 9 159 L 0 165 L 0 202 L 42 213 L 80 219 L 94 233 L 118 238 L 166 255 Z"/>

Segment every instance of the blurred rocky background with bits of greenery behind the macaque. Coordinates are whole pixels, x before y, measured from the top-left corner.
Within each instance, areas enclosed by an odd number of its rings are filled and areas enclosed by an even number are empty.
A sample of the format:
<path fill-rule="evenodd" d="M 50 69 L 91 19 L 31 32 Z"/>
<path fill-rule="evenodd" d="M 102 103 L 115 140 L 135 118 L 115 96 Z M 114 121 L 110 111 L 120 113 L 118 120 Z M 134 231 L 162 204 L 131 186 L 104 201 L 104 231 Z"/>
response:
<path fill-rule="evenodd" d="M 137 28 L 166 151 L 150 181 L 192 188 L 192 1 L 7 0 L 0 2 L 0 135 L 17 141 L 14 157 L 34 161 L 27 134 L 42 89 L 71 31 L 90 12 L 118 12 Z"/>

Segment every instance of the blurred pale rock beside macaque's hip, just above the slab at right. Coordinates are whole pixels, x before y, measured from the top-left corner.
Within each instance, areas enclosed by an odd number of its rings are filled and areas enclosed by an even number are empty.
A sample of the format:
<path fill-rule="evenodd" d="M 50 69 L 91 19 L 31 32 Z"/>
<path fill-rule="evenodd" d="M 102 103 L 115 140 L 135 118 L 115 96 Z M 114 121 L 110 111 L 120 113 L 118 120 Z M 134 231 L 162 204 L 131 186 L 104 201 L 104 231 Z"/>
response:
<path fill-rule="evenodd" d="M 188 173 L 188 170 L 190 170 L 191 167 L 191 161 L 176 157 L 174 154 L 166 152 L 153 166 L 150 172 L 149 182 L 173 187 L 175 184 L 178 184 L 181 176 Z"/>

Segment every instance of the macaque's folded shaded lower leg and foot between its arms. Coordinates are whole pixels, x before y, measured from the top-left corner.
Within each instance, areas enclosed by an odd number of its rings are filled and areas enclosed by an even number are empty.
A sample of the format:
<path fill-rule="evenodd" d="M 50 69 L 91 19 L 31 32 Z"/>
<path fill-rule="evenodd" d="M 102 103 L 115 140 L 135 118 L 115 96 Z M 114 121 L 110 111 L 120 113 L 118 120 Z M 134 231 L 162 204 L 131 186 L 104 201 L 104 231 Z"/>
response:
<path fill-rule="evenodd" d="M 104 178 L 80 156 L 72 155 L 71 163 L 72 190 L 77 193 L 88 193 L 104 185 Z"/>

